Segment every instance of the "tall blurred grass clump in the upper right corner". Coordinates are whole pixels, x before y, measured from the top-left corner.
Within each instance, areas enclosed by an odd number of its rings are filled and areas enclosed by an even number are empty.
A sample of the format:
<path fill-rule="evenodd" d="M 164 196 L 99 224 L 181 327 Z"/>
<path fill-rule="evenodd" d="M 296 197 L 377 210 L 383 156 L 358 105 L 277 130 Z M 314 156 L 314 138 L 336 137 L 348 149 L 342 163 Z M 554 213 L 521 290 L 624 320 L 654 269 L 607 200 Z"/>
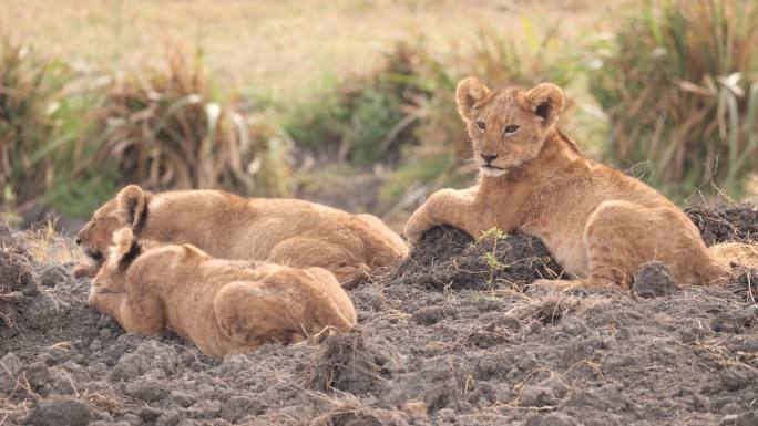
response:
<path fill-rule="evenodd" d="M 758 2 L 647 1 L 597 46 L 591 92 L 606 111 L 606 156 L 645 163 L 675 197 L 713 179 L 738 195 L 758 165 Z"/>

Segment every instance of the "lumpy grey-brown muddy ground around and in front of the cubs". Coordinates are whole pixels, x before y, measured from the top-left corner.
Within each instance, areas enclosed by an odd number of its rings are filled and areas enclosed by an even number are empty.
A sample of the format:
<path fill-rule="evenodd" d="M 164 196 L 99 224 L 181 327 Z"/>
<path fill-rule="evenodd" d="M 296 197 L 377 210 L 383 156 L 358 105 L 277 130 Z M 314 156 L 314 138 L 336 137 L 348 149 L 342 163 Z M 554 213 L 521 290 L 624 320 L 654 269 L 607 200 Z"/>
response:
<path fill-rule="evenodd" d="M 709 243 L 756 236 L 749 206 L 688 214 Z M 350 293 L 352 333 L 217 361 L 124 333 L 25 246 L 0 229 L 0 425 L 758 425 L 756 273 L 545 293 L 539 240 L 437 228 Z"/>

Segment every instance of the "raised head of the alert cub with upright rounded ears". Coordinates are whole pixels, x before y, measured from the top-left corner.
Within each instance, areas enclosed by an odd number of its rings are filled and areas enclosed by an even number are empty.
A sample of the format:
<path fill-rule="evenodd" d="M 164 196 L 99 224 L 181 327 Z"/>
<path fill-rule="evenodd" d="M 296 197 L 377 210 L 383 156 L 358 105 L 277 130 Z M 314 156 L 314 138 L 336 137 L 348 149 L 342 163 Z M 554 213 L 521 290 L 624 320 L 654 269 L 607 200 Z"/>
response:
<path fill-rule="evenodd" d="M 474 162 L 488 177 L 503 176 L 534 159 L 564 105 L 563 92 L 554 84 L 490 91 L 474 77 L 458 83 L 455 97 Z"/>

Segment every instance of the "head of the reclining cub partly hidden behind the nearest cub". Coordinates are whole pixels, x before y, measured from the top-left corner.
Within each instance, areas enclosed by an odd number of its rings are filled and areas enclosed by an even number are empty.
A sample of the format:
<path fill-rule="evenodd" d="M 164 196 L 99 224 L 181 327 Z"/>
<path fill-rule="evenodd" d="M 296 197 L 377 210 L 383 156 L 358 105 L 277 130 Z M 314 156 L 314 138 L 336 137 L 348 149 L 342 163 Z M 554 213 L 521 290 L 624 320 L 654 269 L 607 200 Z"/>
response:
<path fill-rule="evenodd" d="M 76 245 L 90 260 L 92 268 L 80 274 L 94 273 L 105 261 L 113 232 L 130 227 L 139 232 L 147 218 L 147 193 L 136 185 L 124 187 L 119 195 L 100 207 L 76 235 Z"/>

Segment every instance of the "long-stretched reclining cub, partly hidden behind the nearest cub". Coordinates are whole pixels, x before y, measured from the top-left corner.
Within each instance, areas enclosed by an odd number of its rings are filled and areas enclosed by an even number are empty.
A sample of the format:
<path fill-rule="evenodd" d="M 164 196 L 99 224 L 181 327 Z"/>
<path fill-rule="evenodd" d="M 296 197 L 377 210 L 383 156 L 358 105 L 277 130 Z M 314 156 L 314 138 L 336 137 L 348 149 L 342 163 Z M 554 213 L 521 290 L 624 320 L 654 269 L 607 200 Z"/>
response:
<path fill-rule="evenodd" d="M 94 276 L 116 229 L 140 238 L 191 243 L 222 259 L 321 267 L 346 288 L 408 254 L 402 239 L 379 218 L 297 199 L 244 199 L 221 190 L 153 194 L 130 185 L 95 211 L 76 236 Z"/>

